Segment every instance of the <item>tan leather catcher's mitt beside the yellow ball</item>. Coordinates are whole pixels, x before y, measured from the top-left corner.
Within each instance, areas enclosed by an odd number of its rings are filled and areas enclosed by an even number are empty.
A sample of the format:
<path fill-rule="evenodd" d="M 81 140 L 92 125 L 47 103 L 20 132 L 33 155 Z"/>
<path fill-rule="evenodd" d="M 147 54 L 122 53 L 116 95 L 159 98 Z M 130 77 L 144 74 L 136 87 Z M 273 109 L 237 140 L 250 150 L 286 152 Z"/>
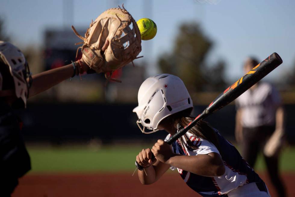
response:
<path fill-rule="evenodd" d="M 84 41 L 76 43 L 83 44 L 79 47 L 82 50 L 82 61 L 97 73 L 104 72 L 109 80 L 115 80 L 110 79 L 113 71 L 140 58 L 136 57 L 141 52 L 140 32 L 124 6 L 123 9 L 120 6 L 108 9 L 99 15 L 91 22 L 85 38 L 73 26 L 72 29 Z M 106 49 L 103 51 L 102 48 Z"/>

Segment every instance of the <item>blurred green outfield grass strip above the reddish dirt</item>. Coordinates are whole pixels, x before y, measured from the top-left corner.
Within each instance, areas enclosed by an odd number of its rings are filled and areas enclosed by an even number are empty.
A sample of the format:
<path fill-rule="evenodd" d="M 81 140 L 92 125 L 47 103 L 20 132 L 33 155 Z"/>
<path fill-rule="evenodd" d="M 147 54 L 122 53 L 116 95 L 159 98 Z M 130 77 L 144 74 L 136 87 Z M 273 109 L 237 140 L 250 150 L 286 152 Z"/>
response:
<path fill-rule="evenodd" d="M 145 146 L 107 146 L 98 150 L 86 146 L 36 147 L 29 146 L 31 173 L 51 172 L 119 172 L 135 169 L 135 156 Z M 149 147 L 149 146 L 147 146 Z M 295 147 L 285 148 L 281 156 L 281 169 L 295 171 Z M 265 170 L 261 156 L 256 170 Z"/>

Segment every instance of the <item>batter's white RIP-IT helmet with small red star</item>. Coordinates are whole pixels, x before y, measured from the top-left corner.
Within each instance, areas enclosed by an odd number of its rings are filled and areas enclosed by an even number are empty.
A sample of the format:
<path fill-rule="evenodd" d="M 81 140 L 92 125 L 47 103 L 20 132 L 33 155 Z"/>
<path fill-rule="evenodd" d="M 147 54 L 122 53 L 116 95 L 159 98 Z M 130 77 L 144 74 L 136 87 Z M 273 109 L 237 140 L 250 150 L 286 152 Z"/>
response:
<path fill-rule="evenodd" d="M 138 106 L 133 112 L 138 116 L 136 123 L 141 132 L 149 134 L 159 130 L 164 118 L 188 108 L 193 108 L 193 103 L 182 80 L 174 75 L 160 74 L 141 84 Z"/>

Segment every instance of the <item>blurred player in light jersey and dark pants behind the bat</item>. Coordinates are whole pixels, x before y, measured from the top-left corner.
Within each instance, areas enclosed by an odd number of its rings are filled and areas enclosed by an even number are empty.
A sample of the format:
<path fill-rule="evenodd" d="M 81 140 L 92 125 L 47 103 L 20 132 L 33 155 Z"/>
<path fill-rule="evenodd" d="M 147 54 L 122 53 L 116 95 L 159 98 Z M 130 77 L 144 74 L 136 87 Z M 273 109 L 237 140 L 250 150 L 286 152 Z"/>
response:
<path fill-rule="evenodd" d="M 244 72 L 258 64 L 255 58 L 246 59 Z M 236 99 L 236 107 L 235 138 L 241 145 L 242 156 L 254 167 L 262 151 L 278 196 L 285 196 L 278 167 L 284 137 L 284 109 L 279 92 L 269 83 L 258 82 Z"/>

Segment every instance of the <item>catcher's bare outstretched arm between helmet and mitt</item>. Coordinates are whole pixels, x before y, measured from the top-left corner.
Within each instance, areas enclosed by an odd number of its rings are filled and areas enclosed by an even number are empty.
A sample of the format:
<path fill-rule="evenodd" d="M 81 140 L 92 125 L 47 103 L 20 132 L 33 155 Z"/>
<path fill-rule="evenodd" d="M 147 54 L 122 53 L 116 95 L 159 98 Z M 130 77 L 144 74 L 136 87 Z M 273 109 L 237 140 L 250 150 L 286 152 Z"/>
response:
<path fill-rule="evenodd" d="M 80 66 L 81 65 L 81 66 Z M 81 69 L 82 68 L 82 69 Z M 84 64 L 82 61 L 76 62 L 76 73 L 83 73 L 87 71 L 89 67 Z M 33 83 L 29 90 L 29 97 L 33 97 L 36 94 L 39 94 L 54 85 L 59 84 L 60 82 L 72 77 L 74 75 L 74 67 L 72 64 L 65 65 L 60 68 L 54 68 L 48 71 L 41 72 L 39 74 L 33 75 Z"/>

